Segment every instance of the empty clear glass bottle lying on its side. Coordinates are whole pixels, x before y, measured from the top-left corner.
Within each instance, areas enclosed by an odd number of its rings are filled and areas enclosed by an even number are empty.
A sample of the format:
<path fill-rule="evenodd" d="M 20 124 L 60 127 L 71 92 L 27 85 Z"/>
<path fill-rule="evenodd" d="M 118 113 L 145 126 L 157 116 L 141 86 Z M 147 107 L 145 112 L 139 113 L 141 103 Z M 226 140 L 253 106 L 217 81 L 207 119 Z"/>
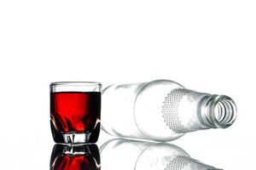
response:
<path fill-rule="evenodd" d="M 230 127 L 236 105 L 225 95 L 202 94 L 177 82 L 157 80 L 103 90 L 102 129 L 136 139 L 170 141 L 184 133 Z"/>

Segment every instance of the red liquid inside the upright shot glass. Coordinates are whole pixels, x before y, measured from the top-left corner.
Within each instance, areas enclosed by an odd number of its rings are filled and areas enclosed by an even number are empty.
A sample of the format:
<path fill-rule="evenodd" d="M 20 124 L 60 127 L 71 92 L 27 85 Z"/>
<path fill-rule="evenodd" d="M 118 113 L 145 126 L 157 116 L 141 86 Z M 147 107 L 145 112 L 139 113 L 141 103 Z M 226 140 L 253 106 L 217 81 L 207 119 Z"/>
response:
<path fill-rule="evenodd" d="M 61 133 L 90 133 L 101 113 L 99 92 L 58 92 L 50 94 L 50 115 Z"/>

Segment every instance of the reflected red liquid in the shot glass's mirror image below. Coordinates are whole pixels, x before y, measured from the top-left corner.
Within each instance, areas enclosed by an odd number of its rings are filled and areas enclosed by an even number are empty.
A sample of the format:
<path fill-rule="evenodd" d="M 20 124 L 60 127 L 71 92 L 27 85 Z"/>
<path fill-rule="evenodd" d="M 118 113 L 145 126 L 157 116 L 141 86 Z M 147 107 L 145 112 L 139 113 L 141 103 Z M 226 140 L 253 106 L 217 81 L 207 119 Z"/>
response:
<path fill-rule="evenodd" d="M 100 170 L 92 156 L 61 156 L 55 160 L 54 170 Z"/>

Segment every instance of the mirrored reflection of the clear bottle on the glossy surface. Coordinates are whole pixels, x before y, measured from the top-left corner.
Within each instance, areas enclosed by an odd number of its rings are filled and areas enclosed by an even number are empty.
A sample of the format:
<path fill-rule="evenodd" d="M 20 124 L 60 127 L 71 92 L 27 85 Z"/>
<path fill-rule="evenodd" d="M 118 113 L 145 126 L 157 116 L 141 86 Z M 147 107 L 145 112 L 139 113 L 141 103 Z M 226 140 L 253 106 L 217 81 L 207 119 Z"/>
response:
<path fill-rule="evenodd" d="M 100 148 L 102 170 L 219 170 L 173 144 L 113 139 Z"/>

